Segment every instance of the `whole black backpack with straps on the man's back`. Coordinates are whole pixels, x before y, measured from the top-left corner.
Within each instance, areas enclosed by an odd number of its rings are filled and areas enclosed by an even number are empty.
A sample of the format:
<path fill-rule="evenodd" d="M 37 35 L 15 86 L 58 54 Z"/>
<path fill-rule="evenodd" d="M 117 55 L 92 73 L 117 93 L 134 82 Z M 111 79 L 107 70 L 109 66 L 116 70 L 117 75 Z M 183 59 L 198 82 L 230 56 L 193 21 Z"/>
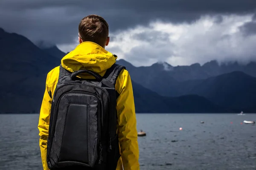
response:
<path fill-rule="evenodd" d="M 124 66 L 113 64 L 104 77 L 60 66 L 52 98 L 47 164 L 58 170 L 115 170 L 120 158 L 116 134 L 116 79 Z M 81 73 L 96 79 L 81 79 Z"/>

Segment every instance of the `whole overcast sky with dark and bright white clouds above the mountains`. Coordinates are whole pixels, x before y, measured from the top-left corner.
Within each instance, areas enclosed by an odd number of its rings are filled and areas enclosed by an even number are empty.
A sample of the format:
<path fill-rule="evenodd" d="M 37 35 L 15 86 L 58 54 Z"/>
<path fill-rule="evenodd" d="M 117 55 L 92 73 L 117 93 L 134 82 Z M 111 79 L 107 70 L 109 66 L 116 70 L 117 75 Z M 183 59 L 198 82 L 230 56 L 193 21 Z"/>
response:
<path fill-rule="evenodd" d="M 0 27 L 62 51 L 78 44 L 78 24 L 99 14 L 106 49 L 136 66 L 256 61 L 256 0 L 0 0 Z"/>

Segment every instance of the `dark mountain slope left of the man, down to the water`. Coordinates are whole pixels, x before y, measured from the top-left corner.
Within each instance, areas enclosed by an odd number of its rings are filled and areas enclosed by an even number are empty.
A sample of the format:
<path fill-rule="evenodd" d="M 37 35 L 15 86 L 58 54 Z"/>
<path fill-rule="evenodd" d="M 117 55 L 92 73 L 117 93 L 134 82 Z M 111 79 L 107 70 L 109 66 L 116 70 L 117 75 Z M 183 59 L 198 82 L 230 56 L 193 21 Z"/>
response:
<path fill-rule="evenodd" d="M 38 112 L 47 73 L 60 64 L 26 37 L 0 29 L 0 112 Z"/>

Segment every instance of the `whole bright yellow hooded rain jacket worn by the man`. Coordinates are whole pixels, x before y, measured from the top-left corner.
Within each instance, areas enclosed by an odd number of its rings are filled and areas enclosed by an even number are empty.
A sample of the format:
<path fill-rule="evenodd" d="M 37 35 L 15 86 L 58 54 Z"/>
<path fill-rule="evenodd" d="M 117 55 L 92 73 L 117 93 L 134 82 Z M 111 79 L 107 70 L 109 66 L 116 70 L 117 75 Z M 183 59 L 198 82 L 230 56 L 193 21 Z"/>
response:
<path fill-rule="evenodd" d="M 61 65 L 68 71 L 88 69 L 103 76 L 108 68 L 115 62 L 113 54 L 106 51 L 101 46 L 93 42 L 82 42 L 73 51 L 61 59 Z M 52 69 L 47 74 L 46 89 L 41 105 L 38 122 L 39 144 L 44 170 L 49 170 L 47 166 L 47 139 L 49 130 L 49 120 L 51 112 L 52 96 L 55 91 L 59 76 L 59 66 Z M 82 78 L 92 78 L 91 75 L 81 74 Z M 134 96 L 132 91 L 131 77 L 126 70 L 122 70 L 116 80 L 116 91 L 120 94 L 117 98 L 118 116 L 118 137 L 121 157 L 116 170 L 139 170 L 139 148 L 137 142 L 136 116 L 134 108 Z"/>

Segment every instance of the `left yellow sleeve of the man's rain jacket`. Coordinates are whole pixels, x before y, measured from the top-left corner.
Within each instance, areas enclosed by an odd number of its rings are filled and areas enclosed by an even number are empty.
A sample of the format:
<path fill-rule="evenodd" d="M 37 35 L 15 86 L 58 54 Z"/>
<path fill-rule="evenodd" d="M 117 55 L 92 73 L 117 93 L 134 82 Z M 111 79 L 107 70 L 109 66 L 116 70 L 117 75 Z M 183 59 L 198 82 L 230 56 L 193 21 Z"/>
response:
<path fill-rule="evenodd" d="M 48 78 L 48 76 L 47 76 Z M 47 166 L 46 156 L 47 156 L 47 139 L 49 135 L 49 118 L 50 118 L 50 111 L 52 105 L 52 99 L 49 96 L 49 87 L 46 83 L 46 88 L 44 91 L 44 98 L 41 105 L 40 115 L 39 115 L 39 122 L 38 122 L 38 129 L 39 129 L 39 145 L 41 150 L 41 158 L 44 170 L 49 170 Z"/>

